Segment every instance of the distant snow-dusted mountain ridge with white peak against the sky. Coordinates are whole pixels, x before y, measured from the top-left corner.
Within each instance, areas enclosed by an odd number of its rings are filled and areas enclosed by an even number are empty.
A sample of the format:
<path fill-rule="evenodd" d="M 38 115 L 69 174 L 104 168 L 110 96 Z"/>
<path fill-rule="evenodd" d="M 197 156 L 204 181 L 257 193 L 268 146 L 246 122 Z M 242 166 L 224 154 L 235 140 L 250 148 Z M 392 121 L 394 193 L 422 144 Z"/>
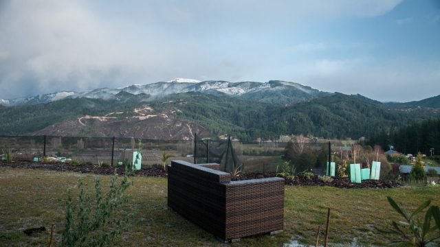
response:
<path fill-rule="evenodd" d="M 229 95 L 240 99 L 248 99 L 258 102 L 276 104 L 288 104 L 304 102 L 329 93 L 312 89 L 295 82 L 271 80 L 269 82 L 227 82 L 227 81 L 203 81 L 193 79 L 176 78 L 168 82 L 156 82 L 152 84 L 133 84 L 119 89 L 95 89 L 87 92 L 63 91 L 21 97 L 17 99 L 0 99 L 3 106 L 17 106 L 23 104 L 40 104 L 53 102 L 59 99 L 87 97 L 93 99 L 113 99 L 120 92 L 133 95 L 145 94 L 145 99 L 152 101 L 161 99 L 174 93 L 198 92 L 212 95 Z"/>

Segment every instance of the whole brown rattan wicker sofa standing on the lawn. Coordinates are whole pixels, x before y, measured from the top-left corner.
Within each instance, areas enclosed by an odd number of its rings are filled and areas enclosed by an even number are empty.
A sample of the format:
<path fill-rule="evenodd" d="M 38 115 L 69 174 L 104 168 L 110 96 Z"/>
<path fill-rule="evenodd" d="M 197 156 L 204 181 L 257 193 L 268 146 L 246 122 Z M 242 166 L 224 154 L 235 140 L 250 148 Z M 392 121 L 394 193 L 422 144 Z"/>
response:
<path fill-rule="evenodd" d="M 172 161 L 168 207 L 225 241 L 283 231 L 284 179 L 231 181 L 219 167 Z"/>

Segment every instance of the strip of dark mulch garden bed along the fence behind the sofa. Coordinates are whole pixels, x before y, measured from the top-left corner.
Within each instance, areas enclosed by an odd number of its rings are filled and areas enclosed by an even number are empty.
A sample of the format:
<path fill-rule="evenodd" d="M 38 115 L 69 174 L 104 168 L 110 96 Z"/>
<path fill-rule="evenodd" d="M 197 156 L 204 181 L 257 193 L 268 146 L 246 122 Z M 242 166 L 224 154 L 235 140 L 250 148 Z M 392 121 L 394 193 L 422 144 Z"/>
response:
<path fill-rule="evenodd" d="M 113 175 L 124 174 L 124 167 L 98 167 L 93 165 L 69 165 L 65 163 L 3 163 L 0 162 L 0 166 L 16 167 L 16 168 L 28 168 L 28 169 L 48 169 L 59 172 L 80 172 L 80 173 L 92 173 L 100 175 Z M 157 176 L 166 177 L 168 174 L 162 168 L 151 167 L 135 170 L 133 173 L 137 176 Z M 239 176 L 232 176 L 232 180 L 248 180 L 254 178 L 270 178 L 276 176 L 275 173 L 261 174 L 261 173 L 245 173 L 239 174 Z M 310 185 L 310 186 L 331 186 L 346 189 L 361 189 L 361 188 L 395 188 L 400 187 L 399 183 L 395 183 L 392 180 L 362 180 L 362 183 L 351 183 L 350 178 L 333 178 L 331 182 L 324 182 L 313 176 L 310 179 L 298 177 L 295 179 L 285 178 L 286 185 Z"/>

